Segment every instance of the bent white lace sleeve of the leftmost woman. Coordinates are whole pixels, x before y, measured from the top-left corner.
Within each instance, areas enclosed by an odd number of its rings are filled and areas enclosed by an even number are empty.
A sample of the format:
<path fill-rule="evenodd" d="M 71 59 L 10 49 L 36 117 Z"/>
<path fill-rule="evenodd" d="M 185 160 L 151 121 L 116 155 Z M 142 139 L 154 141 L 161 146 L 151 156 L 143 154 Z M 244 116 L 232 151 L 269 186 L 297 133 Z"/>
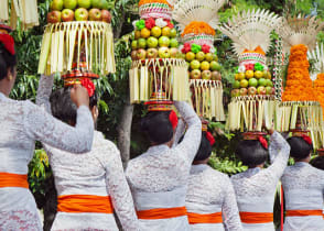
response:
<path fill-rule="evenodd" d="M 32 140 L 73 153 L 91 150 L 94 120 L 87 107 L 82 106 L 77 109 L 75 128 L 55 119 L 32 102 L 26 101 L 23 110 L 23 128 Z"/>

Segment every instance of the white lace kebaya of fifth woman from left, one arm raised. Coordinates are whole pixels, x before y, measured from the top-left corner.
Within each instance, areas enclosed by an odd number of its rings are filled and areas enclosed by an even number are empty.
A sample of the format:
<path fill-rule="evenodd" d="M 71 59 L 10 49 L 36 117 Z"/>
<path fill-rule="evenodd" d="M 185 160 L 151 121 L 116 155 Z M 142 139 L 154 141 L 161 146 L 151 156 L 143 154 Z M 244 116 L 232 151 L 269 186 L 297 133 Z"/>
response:
<path fill-rule="evenodd" d="M 290 146 L 278 132 L 271 135 L 270 142 L 269 154 L 272 164 L 268 168 L 249 168 L 231 177 L 244 230 L 274 231 L 272 221 L 267 223 L 245 222 L 242 218 L 242 215 L 247 215 L 242 212 L 252 212 L 253 220 L 262 220 L 264 213 L 267 220 L 270 216 L 270 220 L 273 219 L 276 188 L 287 166 Z"/>

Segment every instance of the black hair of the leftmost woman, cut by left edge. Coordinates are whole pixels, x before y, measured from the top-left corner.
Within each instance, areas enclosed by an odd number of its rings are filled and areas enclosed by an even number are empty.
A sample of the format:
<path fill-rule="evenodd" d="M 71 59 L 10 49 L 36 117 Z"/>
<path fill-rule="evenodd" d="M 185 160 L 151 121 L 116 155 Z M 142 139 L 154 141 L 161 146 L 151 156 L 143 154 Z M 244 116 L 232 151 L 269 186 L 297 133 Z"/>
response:
<path fill-rule="evenodd" d="M 13 73 L 17 66 L 17 55 L 11 55 L 0 43 L 0 80 L 7 77 L 8 69 Z"/>

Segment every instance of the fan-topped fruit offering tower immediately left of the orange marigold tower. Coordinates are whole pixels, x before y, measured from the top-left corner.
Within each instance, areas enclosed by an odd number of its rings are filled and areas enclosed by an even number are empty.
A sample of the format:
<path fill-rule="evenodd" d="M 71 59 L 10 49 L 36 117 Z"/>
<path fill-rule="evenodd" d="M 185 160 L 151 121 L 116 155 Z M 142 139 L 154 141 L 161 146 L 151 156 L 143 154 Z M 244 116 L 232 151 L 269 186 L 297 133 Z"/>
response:
<path fill-rule="evenodd" d="M 261 132 L 274 118 L 274 86 L 266 53 L 279 18 L 268 10 L 242 11 L 219 30 L 233 40 L 238 67 L 228 106 L 227 129 Z"/>

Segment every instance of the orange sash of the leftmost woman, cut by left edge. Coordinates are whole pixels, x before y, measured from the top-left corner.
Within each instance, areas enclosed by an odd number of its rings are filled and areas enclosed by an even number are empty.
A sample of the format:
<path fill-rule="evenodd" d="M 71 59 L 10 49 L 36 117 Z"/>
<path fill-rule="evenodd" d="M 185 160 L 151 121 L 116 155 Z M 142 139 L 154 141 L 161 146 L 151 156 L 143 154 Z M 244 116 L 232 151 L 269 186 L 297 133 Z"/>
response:
<path fill-rule="evenodd" d="M 29 188 L 28 175 L 0 173 L 0 188 L 4 187 Z"/>

